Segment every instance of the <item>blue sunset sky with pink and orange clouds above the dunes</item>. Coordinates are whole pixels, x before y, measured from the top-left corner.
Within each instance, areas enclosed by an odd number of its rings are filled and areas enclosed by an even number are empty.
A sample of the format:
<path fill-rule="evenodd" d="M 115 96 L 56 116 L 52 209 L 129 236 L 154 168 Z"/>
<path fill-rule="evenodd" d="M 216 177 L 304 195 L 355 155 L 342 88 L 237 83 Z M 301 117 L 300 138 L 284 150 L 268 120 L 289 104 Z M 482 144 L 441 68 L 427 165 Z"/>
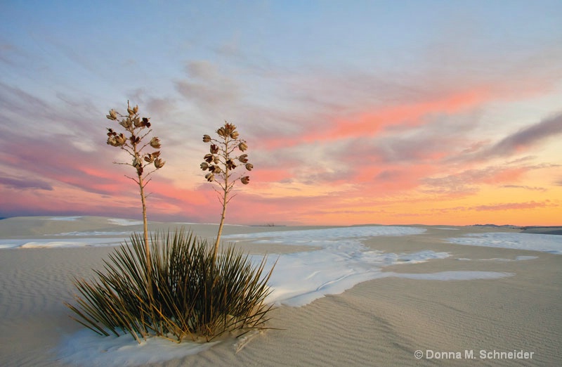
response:
<path fill-rule="evenodd" d="M 127 101 L 166 165 L 148 219 L 217 223 L 225 121 L 250 184 L 226 222 L 561 225 L 561 1 L 0 2 L 0 217 L 138 219 L 106 144 Z M 240 172 L 242 173 L 242 172 Z"/>

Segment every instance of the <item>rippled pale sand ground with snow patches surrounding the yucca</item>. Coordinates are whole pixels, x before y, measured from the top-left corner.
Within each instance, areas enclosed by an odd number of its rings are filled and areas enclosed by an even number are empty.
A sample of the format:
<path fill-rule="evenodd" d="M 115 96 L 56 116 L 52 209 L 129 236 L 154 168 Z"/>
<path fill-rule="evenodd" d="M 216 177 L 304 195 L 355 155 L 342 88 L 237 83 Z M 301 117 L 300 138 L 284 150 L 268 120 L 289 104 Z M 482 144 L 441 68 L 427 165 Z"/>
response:
<path fill-rule="evenodd" d="M 152 224 L 151 228 L 169 226 L 176 225 Z M 72 276 L 87 277 L 92 268 L 100 269 L 112 251 L 108 244 L 140 228 L 138 223 L 97 217 L 0 221 L 0 246 L 12 247 L 0 249 L 0 366 L 103 365 L 95 354 L 89 359 L 72 358 L 69 340 L 80 340 L 84 328 L 68 318 L 70 312 L 63 301 L 72 301 Z M 209 238 L 216 231 L 212 225 L 192 228 Z M 558 240 L 544 248 L 539 246 L 544 241 L 535 237 L 540 252 L 483 246 L 499 246 L 502 236 L 519 240 L 516 230 L 417 228 L 415 233 L 423 233 L 406 235 L 395 228 L 391 230 L 395 233 L 383 233 L 393 236 L 380 236 L 380 228 L 228 226 L 226 239 L 238 240 L 245 250 L 285 254 L 282 259 L 294 261 L 297 271 L 290 273 L 287 264 L 281 264 L 277 278 L 272 278 L 277 282 L 274 288 L 287 289 L 275 295 L 274 300 L 282 305 L 273 311 L 270 326 L 284 330 L 248 335 L 245 344 L 227 338 L 190 356 L 174 355 L 177 348 L 163 345 L 151 350 L 161 351 L 165 358 L 155 358 L 159 362 L 151 365 L 464 366 L 466 359 L 436 356 L 439 352 L 458 356 L 459 352 L 464 357 L 465 350 L 472 350 L 481 365 L 561 364 L 562 255 L 556 254 Z M 263 231 L 269 233 L 249 235 Z M 117 232 L 121 234 L 116 236 Z M 487 234 L 498 232 L 507 234 Z M 492 240 L 472 245 L 447 241 L 467 233 L 483 233 L 467 237 L 473 241 Z M 532 247 L 532 241 L 529 244 L 526 241 L 522 246 Z M 303 266 L 296 264 L 308 266 L 313 273 L 306 276 Z M 299 279 L 303 289 L 315 287 L 315 292 L 309 292 L 314 294 L 291 297 L 289 292 L 296 292 L 294 282 Z M 306 305 L 295 307 L 299 304 Z M 133 365 L 137 361 L 133 356 L 148 350 L 133 342 L 117 353 L 110 350 L 111 340 L 95 343 L 107 350 L 96 354 L 111 356 L 119 366 Z M 91 345 L 79 348 L 81 352 L 94 350 Z M 429 351 L 433 359 L 415 359 L 418 349 L 424 354 Z M 533 355 L 532 359 L 481 359 L 481 350 L 492 353 L 486 356 L 514 350 Z"/>

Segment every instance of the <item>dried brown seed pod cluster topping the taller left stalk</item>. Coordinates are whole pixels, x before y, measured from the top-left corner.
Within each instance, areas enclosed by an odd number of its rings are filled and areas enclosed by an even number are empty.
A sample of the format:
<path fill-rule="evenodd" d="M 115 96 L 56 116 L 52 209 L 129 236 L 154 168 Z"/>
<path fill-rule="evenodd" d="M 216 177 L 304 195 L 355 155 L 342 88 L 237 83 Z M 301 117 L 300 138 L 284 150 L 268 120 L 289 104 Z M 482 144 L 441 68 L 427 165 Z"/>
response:
<path fill-rule="evenodd" d="M 144 132 L 144 129 L 150 129 L 150 118 L 140 117 L 138 115 L 138 105 L 131 108 L 127 105 L 127 115 L 121 115 L 115 110 L 110 110 L 107 119 L 119 122 L 129 136 L 118 133 L 111 128 L 107 128 L 107 144 L 125 150 L 132 156 L 131 166 L 135 167 L 137 175 L 142 176 L 144 169 L 148 165 L 154 165 L 155 169 L 164 167 L 164 160 L 160 157 L 160 151 L 156 150 L 152 153 L 143 153 L 143 149 L 150 146 L 154 149 L 161 147 L 160 139 L 157 136 L 150 139 L 148 143 L 141 145 L 143 139 L 150 134 L 152 130 Z"/>

